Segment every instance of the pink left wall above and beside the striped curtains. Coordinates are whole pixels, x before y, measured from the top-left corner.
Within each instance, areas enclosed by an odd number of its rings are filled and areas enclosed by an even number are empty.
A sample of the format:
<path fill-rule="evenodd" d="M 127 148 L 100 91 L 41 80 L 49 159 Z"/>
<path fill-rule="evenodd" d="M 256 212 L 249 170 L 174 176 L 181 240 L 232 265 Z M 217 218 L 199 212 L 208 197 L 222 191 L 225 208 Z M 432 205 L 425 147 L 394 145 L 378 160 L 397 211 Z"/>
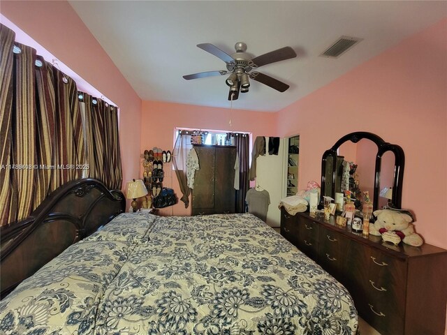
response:
<path fill-rule="evenodd" d="M 118 105 L 125 186 L 139 170 L 141 99 L 67 1 L 1 1 L 0 10 Z"/>

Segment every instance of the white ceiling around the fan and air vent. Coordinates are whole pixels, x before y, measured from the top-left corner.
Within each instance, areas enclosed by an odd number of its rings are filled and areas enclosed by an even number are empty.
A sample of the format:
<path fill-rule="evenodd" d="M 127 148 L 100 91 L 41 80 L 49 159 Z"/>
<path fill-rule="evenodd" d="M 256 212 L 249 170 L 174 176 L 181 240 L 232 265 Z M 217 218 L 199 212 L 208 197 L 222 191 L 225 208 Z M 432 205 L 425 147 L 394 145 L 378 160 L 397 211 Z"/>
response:
<path fill-rule="evenodd" d="M 196 45 L 254 57 L 291 46 L 298 57 L 259 68 L 290 85 L 284 93 L 251 80 L 233 107 L 274 112 L 316 91 L 404 38 L 447 17 L 446 1 L 70 1 L 142 100 L 230 107 L 225 70 Z M 319 54 L 340 36 L 363 40 L 338 59 Z"/>

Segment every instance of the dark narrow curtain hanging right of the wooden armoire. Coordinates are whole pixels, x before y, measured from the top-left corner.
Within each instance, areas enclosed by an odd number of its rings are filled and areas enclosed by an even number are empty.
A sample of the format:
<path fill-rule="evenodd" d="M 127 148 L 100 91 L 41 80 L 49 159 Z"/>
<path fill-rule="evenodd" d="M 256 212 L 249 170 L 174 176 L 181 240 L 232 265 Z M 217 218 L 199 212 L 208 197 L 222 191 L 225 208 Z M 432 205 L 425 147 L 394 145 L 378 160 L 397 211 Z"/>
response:
<path fill-rule="evenodd" d="M 245 212 L 245 196 L 249 191 L 249 135 L 244 133 L 228 133 L 235 138 L 237 156 L 239 156 L 239 190 L 236 191 L 236 213 Z M 232 141 L 233 142 L 233 141 Z"/>

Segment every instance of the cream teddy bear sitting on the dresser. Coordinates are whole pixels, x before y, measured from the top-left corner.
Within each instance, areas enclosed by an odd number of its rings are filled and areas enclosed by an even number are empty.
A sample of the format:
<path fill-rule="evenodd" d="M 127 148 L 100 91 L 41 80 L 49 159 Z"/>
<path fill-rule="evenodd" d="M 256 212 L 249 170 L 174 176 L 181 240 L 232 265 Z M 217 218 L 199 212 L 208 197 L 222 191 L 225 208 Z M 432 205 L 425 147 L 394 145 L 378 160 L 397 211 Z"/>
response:
<path fill-rule="evenodd" d="M 369 225 L 369 234 L 389 237 L 397 234 L 405 244 L 410 246 L 422 246 L 423 239 L 414 231 L 413 218 L 409 214 L 391 209 L 379 209 L 374 211 L 376 221 Z M 399 241 L 399 240 L 397 240 Z"/>

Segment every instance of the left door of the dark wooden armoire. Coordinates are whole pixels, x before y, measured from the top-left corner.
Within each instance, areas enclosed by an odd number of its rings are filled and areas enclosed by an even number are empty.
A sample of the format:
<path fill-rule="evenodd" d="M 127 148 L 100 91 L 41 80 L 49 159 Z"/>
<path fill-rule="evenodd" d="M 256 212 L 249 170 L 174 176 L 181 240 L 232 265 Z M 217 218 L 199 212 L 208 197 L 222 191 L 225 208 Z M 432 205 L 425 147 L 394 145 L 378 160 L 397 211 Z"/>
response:
<path fill-rule="evenodd" d="M 200 170 L 194 177 L 192 191 L 192 214 L 214 213 L 214 169 L 216 166 L 216 151 L 214 147 L 194 146 L 197 152 Z"/>

